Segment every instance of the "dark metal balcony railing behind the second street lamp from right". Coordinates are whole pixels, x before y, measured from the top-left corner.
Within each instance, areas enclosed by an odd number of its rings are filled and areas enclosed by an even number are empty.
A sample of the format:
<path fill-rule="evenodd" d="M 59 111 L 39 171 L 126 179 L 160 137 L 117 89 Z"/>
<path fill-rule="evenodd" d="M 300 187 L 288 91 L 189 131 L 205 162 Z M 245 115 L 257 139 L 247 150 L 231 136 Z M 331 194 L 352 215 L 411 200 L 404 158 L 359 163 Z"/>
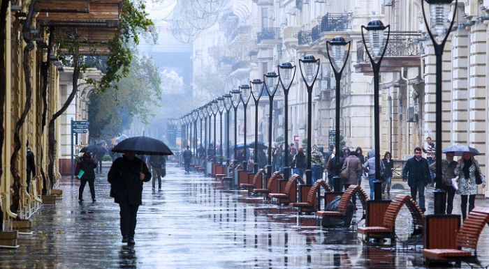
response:
<path fill-rule="evenodd" d="M 392 32 L 384 56 L 421 55 L 423 52 L 423 43 L 416 40 L 419 36 L 420 34 L 416 32 Z M 356 59 L 358 63 L 370 62 L 362 40 L 356 43 Z"/>

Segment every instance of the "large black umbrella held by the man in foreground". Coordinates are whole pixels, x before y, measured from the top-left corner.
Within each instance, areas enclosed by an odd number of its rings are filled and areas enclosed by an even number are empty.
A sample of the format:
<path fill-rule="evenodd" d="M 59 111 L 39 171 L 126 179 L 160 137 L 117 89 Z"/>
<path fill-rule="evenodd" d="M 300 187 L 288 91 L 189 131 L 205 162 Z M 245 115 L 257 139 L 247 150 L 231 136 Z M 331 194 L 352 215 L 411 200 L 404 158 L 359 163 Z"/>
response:
<path fill-rule="evenodd" d="M 158 139 L 151 137 L 129 137 L 119 142 L 112 151 L 124 153 L 124 151 L 135 151 L 141 155 L 173 155 L 173 152 Z"/>

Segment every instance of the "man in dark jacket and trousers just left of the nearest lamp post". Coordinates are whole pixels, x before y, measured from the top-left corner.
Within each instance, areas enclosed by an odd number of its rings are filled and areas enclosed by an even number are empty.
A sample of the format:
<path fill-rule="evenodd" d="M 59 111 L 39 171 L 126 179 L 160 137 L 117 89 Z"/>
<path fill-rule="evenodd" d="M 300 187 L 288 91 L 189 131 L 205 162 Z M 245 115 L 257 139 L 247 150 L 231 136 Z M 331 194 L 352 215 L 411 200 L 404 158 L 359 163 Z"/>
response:
<path fill-rule="evenodd" d="M 402 169 L 402 180 L 407 180 L 407 185 L 411 188 L 411 198 L 416 200 L 419 192 L 419 207 L 423 211 L 425 208 L 425 187 L 430 183 L 430 168 L 428 160 L 421 157 L 421 148 L 414 148 L 414 157 L 411 157 L 404 164 Z"/>

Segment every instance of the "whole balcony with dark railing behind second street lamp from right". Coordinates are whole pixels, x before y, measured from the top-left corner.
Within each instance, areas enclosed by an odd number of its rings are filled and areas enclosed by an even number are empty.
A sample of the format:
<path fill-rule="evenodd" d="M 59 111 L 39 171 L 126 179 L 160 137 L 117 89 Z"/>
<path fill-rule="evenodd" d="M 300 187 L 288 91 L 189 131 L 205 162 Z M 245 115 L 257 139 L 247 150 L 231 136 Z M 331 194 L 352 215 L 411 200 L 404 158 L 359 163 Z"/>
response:
<path fill-rule="evenodd" d="M 391 32 L 389 43 L 386 47 L 386 54 L 382 60 L 381 72 L 400 72 L 401 68 L 413 68 L 420 66 L 421 54 L 423 54 L 423 43 L 417 38 L 420 37 L 416 32 Z M 357 71 L 372 73 L 370 59 L 363 41 L 356 43 Z"/>

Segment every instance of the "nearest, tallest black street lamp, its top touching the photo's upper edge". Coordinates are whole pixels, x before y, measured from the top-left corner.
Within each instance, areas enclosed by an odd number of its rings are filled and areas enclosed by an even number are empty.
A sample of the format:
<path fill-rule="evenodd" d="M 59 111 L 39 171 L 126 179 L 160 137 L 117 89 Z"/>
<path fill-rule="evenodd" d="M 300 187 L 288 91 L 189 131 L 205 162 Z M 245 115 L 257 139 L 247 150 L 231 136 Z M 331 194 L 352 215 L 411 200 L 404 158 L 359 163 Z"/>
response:
<path fill-rule="evenodd" d="M 428 3 L 430 6 L 430 22 L 426 19 L 424 2 Z M 443 49 L 445 47 L 448 35 L 451 32 L 453 23 L 455 22 L 455 15 L 457 13 L 458 0 L 455 0 L 455 5 L 453 8 L 453 15 L 451 22 L 448 20 L 448 15 L 451 12 L 451 3 L 453 0 L 421 0 L 421 8 L 423 10 L 423 18 L 425 20 L 426 29 L 430 35 L 433 47 L 435 48 L 435 55 L 437 57 L 437 69 L 436 69 L 436 129 L 435 139 L 438 146 L 435 148 L 435 166 L 436 166 L 436 176 L 435 176 L 435 214 L 444 214 L 446 206 L 446 192 L 440 189 L 441 183 L 441 64 L 443 58 Z"/>

